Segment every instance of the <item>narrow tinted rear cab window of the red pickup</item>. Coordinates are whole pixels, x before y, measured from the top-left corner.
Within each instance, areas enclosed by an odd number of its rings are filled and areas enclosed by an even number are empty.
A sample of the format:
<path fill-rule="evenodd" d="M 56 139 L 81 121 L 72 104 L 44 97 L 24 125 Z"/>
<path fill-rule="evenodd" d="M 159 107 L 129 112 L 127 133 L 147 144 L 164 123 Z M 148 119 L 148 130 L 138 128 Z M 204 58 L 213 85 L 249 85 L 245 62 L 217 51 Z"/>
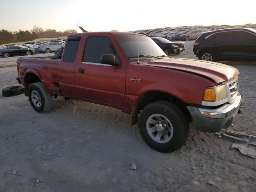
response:
<path fill-rule="evenodd" d="M 76 59 L 76 52 L 78 44 L 80 42 L 80 37 L 70 37 L 66 42 L 65 52 L 63 56 L 64 62 L 74 62 Z"/>

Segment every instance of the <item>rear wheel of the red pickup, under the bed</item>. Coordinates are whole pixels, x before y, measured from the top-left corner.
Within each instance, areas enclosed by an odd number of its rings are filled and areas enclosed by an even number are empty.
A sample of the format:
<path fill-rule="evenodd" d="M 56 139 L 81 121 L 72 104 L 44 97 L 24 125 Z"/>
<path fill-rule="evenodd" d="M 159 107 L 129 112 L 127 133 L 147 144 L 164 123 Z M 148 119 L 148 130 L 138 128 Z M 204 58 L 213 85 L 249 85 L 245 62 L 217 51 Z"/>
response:
<path fill-rule="evenodd" d="M 46 92 L 41 82 L 33 83 L 29 86 L 28 98 L 31 106 L 37 112 L 44 113 L 52 109 L 52 95 Z"/>

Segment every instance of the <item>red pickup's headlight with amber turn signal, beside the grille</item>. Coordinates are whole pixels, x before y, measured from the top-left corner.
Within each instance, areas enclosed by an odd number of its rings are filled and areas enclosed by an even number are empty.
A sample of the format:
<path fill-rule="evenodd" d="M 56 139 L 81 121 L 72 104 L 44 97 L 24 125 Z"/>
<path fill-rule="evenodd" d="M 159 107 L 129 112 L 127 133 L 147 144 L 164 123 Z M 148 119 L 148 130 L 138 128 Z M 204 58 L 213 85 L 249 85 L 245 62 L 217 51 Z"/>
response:
<path fill-rule="evenodd" d="M 204 90 L 204 101 L 220 101 L 225 98 L 227 98 L 225 85 L 218 85 Z"/>

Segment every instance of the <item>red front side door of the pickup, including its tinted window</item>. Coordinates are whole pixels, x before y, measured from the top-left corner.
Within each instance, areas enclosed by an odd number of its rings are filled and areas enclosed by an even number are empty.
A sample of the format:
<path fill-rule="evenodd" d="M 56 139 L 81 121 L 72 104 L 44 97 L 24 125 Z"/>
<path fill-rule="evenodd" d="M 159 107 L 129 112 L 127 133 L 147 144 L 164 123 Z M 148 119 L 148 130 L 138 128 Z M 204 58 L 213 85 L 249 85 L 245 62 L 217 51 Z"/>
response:
<path fill-rule="evenodd" d="M 101 64 L 103 54 L 114 54 L 120 66 Z M 126 65 L 122 65 L 116 48 L 107 36 L 86 39 L 84 55 L 77 62 L 74 76 L 76 96 L 80 99 L 110 106 L 123 106 Z"/>

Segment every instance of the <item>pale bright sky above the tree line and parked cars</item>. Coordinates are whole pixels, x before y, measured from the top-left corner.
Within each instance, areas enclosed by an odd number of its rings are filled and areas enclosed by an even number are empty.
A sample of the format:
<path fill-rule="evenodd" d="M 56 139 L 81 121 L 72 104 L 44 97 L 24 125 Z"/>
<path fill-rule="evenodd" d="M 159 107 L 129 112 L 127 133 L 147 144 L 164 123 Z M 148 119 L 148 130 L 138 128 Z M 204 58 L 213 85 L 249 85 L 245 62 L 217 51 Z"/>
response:
<path fill-rule="evenodd" d="M 0 30 L 64 31 L 256 24 L 255 0 L 0 0 Z"/>

